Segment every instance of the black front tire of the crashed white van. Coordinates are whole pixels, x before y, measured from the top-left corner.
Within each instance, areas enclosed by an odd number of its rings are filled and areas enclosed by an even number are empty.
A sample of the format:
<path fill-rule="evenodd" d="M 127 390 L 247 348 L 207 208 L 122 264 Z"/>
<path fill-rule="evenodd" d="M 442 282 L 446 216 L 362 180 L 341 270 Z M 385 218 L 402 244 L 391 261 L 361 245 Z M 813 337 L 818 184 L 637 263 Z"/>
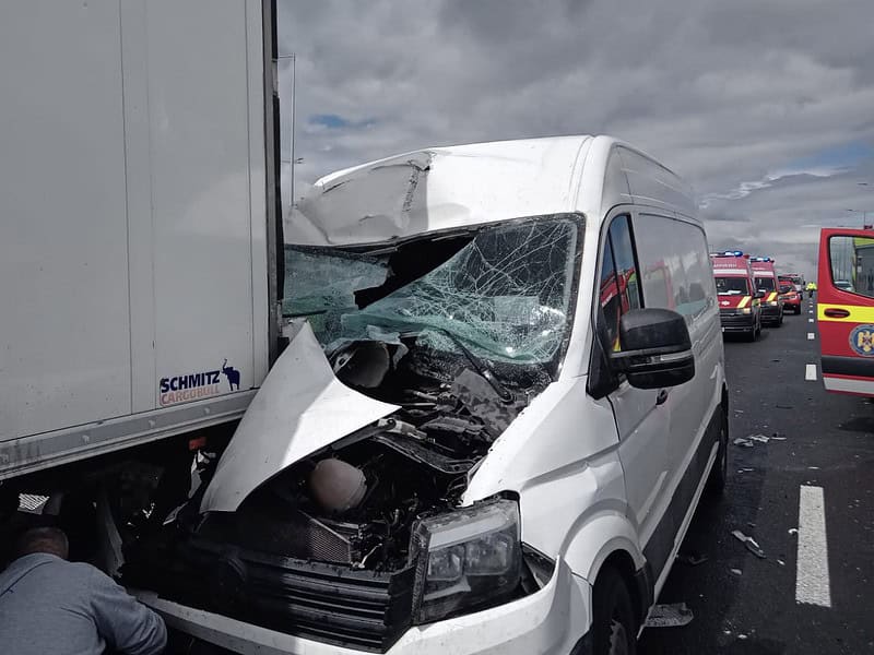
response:
<path fill-rule="evenodd" d="M 622 575 L 610 565 L 598 574 L 592 592 L 593 655 L 635 655 L 637 620 Z"/>

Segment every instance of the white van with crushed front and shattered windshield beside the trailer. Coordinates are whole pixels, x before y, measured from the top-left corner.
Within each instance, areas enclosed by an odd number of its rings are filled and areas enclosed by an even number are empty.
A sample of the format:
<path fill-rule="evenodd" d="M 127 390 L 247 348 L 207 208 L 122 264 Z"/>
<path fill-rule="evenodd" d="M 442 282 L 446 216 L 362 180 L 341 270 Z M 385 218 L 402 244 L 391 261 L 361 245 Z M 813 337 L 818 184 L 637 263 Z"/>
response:
<path fill-rule="evenodd" d="M 727 474 L 695 214 L 606 136 L 321 179 L 286 224 L 290 343 L 123 580 L 239 653 L 634 653 Z"/>

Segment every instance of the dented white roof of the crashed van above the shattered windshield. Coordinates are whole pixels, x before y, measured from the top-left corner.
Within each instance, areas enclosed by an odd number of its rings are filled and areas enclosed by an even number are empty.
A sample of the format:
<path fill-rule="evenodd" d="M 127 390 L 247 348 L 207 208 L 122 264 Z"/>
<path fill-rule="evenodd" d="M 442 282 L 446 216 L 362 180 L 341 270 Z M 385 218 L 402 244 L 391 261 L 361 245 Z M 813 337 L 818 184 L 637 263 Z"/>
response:
<path fill-rule="evenodd" d="M 610 136 L 551 136 L 430 147 L 319 179 L 286 221 L 286 241 L 354 245 L 619 203 L 695 215 L 670 169 Z"/>

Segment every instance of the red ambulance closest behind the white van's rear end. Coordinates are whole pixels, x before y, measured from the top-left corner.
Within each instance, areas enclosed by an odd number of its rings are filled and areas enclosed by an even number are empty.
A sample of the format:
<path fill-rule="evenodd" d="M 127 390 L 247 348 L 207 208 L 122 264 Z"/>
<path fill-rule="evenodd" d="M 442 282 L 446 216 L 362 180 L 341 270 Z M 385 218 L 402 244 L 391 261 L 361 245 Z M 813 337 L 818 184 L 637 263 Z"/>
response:
<path fill-rule="evenodd" d="M 710 254 L 719 298 L 722 332 L 740 332 L 751 341 L 761 334 L 761 298 L 756 289 L 749 255 L 740 250 Z"/>

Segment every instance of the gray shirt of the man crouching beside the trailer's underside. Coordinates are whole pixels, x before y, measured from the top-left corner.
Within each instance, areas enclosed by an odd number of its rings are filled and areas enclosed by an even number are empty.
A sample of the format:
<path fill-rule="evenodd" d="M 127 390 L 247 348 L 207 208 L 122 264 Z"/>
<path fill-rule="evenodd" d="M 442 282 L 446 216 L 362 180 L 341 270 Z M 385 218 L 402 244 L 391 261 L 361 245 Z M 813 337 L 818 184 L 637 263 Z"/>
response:
<path fill-rule="evenodd" d="M 153 655 L 166 643 L 162 618 L 91 564 L 36 552 L 0 573 L 3 653 Z"/>

